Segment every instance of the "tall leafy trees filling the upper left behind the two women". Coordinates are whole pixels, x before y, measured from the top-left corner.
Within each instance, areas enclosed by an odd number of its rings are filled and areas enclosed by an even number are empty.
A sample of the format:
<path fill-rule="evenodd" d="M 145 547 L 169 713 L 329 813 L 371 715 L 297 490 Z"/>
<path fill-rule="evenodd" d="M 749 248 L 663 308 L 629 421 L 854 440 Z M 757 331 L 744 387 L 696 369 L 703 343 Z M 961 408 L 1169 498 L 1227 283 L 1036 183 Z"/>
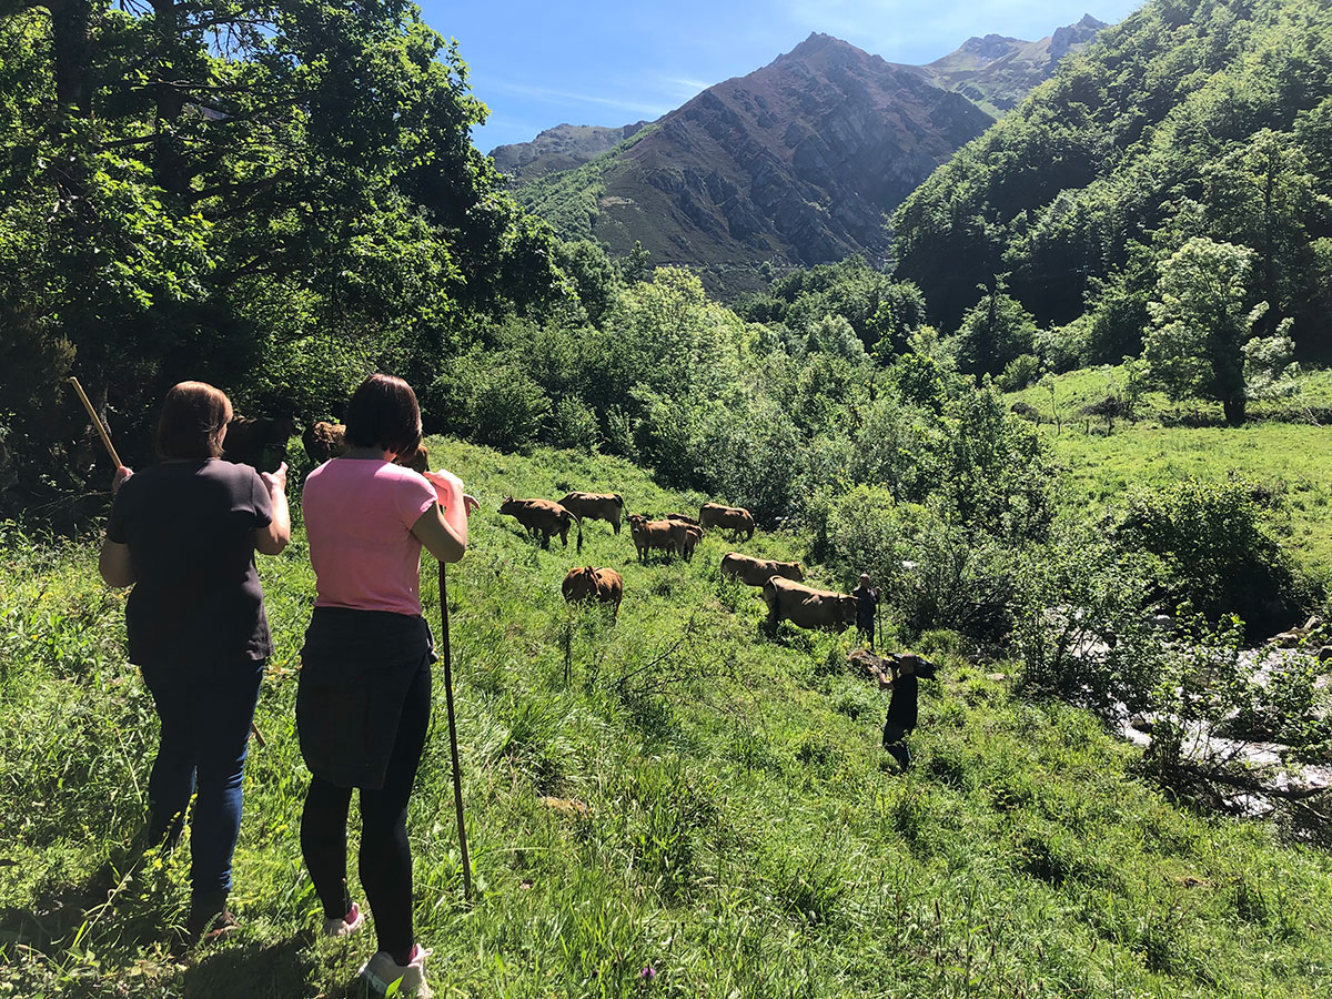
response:
<path fill-rule="evenodd" d="M 330 416 L 368 368 L 420 381 L 484 317 L 562 301 L 482 115 L 413 7 L 0 7 L 4 506 L 88 492 L 71 370 L 136 460 L 184 377 Z"/>

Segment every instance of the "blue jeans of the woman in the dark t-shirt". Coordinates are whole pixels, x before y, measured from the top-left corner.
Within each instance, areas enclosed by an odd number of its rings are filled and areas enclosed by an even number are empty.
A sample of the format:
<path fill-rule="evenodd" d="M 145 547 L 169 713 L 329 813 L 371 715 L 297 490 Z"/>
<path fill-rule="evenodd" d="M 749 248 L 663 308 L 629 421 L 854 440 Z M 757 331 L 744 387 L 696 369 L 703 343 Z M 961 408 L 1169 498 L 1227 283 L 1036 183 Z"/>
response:
<path fill-rule="evenodd" d="M 241 778 L 262 678 L 264 663 L 252 661 L 144 670 L 161 719 L 157 759 L 148 778 L 148 834 L 155 842 L 180 838 L 197 783 L 190 840 L 194 895 L 225 894 L 232 887 Z"/>

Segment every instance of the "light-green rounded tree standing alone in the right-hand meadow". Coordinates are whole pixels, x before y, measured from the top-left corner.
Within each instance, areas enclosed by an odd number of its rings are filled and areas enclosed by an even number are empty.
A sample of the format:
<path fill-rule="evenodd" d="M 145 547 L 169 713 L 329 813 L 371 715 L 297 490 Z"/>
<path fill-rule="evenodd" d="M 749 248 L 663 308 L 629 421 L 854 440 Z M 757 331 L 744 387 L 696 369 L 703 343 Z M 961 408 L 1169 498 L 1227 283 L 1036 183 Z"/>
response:
<path fill-rule="evenodd" d="M 1247 246 L 1195 236 L 1160 262 L 1158 300 L 1148 305 L 1156 326 L 1143 356 L 1152 374 L 1176 398 L 1220 401 L 1233 426 L 1244 422 L 1248 404 L 1245 345 L 1267 312 L 1267 302 L 1248 308 L 1256 256 Z"/>

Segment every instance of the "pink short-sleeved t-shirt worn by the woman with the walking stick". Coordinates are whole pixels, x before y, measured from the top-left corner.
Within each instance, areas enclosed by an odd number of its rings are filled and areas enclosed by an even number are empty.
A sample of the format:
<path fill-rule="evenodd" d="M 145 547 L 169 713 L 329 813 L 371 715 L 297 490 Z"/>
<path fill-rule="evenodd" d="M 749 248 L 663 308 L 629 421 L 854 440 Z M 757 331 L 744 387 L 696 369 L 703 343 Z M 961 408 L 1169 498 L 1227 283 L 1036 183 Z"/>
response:
<path fill-rule="evenodd" d="M 316 607 L 421 614 L 421 542 L 412 525 L 434 486 L 401 465 L 334 458 L 305 477 L 301 510 Z"/>

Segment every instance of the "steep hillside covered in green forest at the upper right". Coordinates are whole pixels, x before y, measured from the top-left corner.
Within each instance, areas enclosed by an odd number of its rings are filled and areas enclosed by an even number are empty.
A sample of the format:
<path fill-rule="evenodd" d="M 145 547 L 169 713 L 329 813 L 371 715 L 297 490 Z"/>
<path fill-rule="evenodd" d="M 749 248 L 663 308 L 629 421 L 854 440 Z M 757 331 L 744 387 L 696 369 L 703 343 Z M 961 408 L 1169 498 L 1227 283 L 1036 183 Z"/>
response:
<path fill-rule="evenodd" d="M 1327 4 L 1150 3 L 902 205 L 896 274 L 946 329 L 1006 285 L 1040 325 L 1072 324 L 1047 353 L 1119 361 L 1143 349 L 1159 264 L 1232 244 L 1252 253 L 1244 309 L 1269 304 L 1257 330 L 1293 320 L 1299 353 L 1327 358 L 1329 136 Z"/>

